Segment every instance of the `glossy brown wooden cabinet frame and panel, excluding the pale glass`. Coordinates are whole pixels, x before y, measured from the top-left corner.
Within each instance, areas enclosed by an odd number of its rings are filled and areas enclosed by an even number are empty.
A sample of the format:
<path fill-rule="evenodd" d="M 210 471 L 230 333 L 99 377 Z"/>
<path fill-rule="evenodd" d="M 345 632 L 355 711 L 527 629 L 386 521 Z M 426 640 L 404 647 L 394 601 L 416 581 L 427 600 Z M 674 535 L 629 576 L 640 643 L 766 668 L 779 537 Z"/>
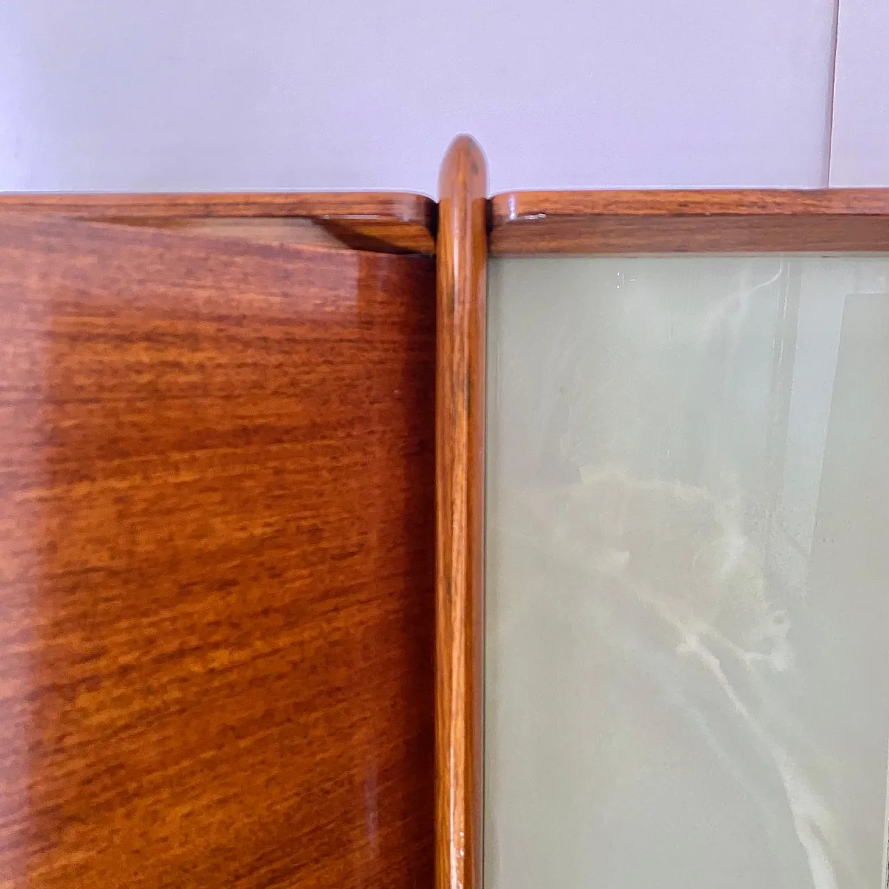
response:
<path fill-rule="evenodd" d="M 465 136 L 438 204 L 0 196 L 0 887 L 481 889 L 489 255 L 887 247 Z"/>

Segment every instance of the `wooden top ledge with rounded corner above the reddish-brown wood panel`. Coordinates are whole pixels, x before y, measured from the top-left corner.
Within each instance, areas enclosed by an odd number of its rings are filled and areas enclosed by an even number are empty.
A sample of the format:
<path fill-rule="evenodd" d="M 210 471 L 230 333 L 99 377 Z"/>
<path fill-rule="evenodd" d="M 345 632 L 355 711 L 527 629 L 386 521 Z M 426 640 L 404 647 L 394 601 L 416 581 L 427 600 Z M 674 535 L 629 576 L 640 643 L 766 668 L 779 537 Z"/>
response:
<path fill-rule="evenodd" d="M 16 210 L 157 228 L 172 227 L 177 220 L 193 220 L 192 226 L 197 220 L 242 220 L 244 233 L 252 226 L 268 229 L 275 220 L 314 220 L 317 228 L 353 249 L 435 251 L 435 202 L 402 192 L 0 195 L 0 214 Z M 279 228 L 279 233 L 293 236 L 299 229 L 282 232 Z"/>

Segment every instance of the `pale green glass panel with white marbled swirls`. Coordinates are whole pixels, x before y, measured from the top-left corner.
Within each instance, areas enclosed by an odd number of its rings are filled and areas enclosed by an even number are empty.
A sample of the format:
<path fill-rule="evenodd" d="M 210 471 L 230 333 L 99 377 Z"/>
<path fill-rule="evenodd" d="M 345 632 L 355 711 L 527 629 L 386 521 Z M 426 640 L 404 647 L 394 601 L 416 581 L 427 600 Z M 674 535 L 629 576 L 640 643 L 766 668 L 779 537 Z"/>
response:
<path fill-rule="evenodd" d="M 486 889 L 878 889 L 889 259 L 491 269 Z"/>

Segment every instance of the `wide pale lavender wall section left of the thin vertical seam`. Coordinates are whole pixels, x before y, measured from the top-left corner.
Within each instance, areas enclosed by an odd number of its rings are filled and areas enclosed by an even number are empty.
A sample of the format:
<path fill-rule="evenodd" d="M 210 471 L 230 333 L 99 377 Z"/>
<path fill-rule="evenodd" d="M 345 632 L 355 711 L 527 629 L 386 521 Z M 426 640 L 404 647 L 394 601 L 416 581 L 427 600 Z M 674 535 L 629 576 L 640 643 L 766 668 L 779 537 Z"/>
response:
<path fill-rule="evenodd" d="M 493 190 L 824 185 L 833 22 L 834 0 L 5 0 L 0 189 L 434 193 L 461 131 Z"/>

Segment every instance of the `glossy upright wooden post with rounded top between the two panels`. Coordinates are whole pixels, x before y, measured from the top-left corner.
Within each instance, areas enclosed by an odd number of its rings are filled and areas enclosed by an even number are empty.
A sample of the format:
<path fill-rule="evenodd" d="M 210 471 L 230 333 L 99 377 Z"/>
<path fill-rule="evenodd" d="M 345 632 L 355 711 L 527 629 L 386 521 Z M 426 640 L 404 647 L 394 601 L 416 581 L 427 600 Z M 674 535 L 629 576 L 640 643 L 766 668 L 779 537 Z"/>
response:
<path fill-rule="evenodd" d="M 487 173 L 469 136 L 439 179 L 436 886 L 481 889 Z"/>

